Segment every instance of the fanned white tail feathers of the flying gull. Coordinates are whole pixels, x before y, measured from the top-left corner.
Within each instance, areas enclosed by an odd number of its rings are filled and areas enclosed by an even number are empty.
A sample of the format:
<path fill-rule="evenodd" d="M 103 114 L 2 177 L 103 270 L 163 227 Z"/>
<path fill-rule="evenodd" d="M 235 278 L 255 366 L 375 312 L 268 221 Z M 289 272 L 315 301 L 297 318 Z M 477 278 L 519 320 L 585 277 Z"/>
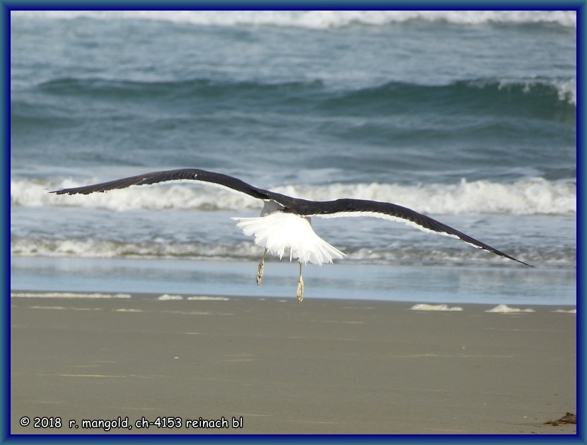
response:
<path fill-rule="evenodd" d="M 344 254 L 315 234 L 310 218 L 277 211 L 259 218 L 233 218 L 247 236 L 255 237 L 257 246 L 265 247 L 269 254 L 283 258 L 289 249 L 289 261 L 300 263 L 332 263 L 343 259 Z"/>

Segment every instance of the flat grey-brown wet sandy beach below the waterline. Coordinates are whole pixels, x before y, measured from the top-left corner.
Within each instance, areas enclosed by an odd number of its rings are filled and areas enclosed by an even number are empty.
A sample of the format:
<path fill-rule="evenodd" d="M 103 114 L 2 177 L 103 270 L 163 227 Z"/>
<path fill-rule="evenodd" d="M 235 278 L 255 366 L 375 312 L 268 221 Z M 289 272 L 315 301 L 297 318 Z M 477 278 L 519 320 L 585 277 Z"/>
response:
<path fill-rule="evenodd" d="M 11 433 L 576 434 L 574 308 L 416 303 L 12 297 Z"/>

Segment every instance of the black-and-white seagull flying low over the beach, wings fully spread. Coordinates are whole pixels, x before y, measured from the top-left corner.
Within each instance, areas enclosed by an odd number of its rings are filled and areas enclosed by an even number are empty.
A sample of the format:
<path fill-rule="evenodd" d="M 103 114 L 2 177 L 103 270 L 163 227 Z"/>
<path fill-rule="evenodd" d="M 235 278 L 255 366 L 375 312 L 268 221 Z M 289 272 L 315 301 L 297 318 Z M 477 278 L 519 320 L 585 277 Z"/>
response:
<path fill-rule="evenodd" d="M 261 215 L 258 218 L 232 218 L 244 235 L 255 237 L 255 244 L 264 247 L 261 261 L 257 268 L 257 285 L 261 284 L 265 266 L 265 256 L 272 254 L 282 259 L 289 253 L 289 261 L 296 259 L 300 264 L 300 278 L 296 297 L 298 303 L 303 300 L 302 266 L 313 263 L 321 266 L 323 263 L 332 263 L 334 259 L 343 259 L 345 254 L 336 247 L 320 238 L 311 225 L 311 217 L 339 218 L 345 216 L 372 216 L 386 220 L 398 221 L 424 232 L 436 233 L 461 239 L 472 247 L 492 252 L 507 259 L 517 261 L 525 266 L 534 267 L 518 259 L 504 254 L 475 238 L 459 232 L 429 216 L 422 215 L 415 210 L 397 204 L 368 201 L 365 199 L 342 198 L 335 201 L 310 201 L 293 198 L 274 191 L 259 189 L 240 179 L 206 170 L 184 168 L 178 170 L 164 170 L 138 174 L 136 176 L 115 179 L 110 182 L 91 184 L 88 186 L 59 189 L 51 193 L 63 195 L 91 194 L 115 189 L 126 189 L 129 186 L 157 184 L 159 182 L 191 180 L 219 186 L 223 189 L 252 196 L 263 201 Z"/>

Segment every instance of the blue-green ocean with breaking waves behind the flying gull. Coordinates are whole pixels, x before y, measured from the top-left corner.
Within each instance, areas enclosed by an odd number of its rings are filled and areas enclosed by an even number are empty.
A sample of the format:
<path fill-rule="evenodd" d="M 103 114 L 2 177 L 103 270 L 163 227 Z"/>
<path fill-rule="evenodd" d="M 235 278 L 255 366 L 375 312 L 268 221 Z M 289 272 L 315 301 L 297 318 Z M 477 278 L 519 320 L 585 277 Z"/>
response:
<path fill-rule="evenodd" d="M 574 11 L 13 11 L 11 289 L 291 297 L 298 267 L 198 184 L 49 191 L 195 167 L 389 201 L 536 268 L 376 218 L 306 299 L 576 304 Z"/>

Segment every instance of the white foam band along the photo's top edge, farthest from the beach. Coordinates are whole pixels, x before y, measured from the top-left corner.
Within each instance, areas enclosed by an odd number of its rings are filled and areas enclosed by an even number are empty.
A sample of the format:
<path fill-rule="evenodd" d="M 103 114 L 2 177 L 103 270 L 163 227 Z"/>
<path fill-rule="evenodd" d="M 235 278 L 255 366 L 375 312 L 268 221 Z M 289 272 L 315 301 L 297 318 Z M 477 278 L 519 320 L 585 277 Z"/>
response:
<path fill-rule="evenodd" d="M 556 23 L 576 28 L 575 11 L 12 11 L 11 16 L 50 19 L 164 20 L 207 26 L 344 28 L 384 26 L 412 20 L 458 25 Z"/>

